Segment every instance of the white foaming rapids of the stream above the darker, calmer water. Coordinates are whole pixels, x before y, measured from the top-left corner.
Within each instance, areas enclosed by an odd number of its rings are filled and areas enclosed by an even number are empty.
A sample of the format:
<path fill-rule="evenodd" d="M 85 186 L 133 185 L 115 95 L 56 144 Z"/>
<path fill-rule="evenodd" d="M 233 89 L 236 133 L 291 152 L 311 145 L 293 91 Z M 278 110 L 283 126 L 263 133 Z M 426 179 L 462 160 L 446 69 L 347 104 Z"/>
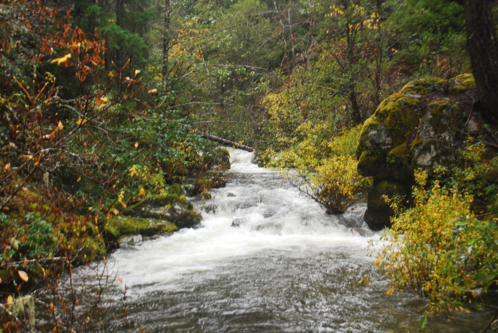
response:
<path fill-rule="evenodd" d="M 252 153 L 231 150 L 231 181 L 196 204 L 203 220 L 170 236 L 120 249 L 111 266 L 128 286 L 173 286 L 182 276 L 210 270 L 225 260 L 264 250 L 321 251 L 348 247 L 365 257 L 367 229 L 351 228 L 302 198 L 278 172 L 251 163 Z M 208 213 L 209 212 L 209 213 Z M 363 216 L 364 208 L 347 214 Z M 233 222 L 238 226 L 232 226 Z M 369 259 L 365 259 L 369 260 Z M 192 277 L 190 277 L 192 278 Z"/>

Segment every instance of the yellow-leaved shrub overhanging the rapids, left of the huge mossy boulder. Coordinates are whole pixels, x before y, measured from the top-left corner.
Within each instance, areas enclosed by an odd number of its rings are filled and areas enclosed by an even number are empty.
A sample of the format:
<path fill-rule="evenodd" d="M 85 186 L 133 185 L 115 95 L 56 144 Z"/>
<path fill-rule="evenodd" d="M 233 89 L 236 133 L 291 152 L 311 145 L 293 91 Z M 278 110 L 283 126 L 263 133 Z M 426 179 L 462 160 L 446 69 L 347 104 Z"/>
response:
<path fill-rule="evenodd" d="M 344 213 L 371 184 L 370 178 L 357 171 L 355 150 L 360 129 L 345 129 L 331 140 L 330 124 L 303 122 L 296 134 L 300 140 L 277 154 L 273 165 L 294 168 L 288 173 L 291 183 L 327 214 Z"/>

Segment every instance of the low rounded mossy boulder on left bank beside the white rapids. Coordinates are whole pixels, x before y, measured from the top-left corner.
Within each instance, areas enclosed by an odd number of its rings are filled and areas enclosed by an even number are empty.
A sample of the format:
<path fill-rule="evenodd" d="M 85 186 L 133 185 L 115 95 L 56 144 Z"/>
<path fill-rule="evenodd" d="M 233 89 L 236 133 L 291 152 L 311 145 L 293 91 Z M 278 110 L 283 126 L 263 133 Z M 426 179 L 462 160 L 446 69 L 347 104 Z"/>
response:
<path fill-rule="evenodd" d="M 148 197 L 128 206 L 123 215 L 163 220 L 174 223 L 178 228 L 191 227 L 201 221 L 201 215 L 194 211 L 192 203 L 184 196 L 176 194 Z"/>

